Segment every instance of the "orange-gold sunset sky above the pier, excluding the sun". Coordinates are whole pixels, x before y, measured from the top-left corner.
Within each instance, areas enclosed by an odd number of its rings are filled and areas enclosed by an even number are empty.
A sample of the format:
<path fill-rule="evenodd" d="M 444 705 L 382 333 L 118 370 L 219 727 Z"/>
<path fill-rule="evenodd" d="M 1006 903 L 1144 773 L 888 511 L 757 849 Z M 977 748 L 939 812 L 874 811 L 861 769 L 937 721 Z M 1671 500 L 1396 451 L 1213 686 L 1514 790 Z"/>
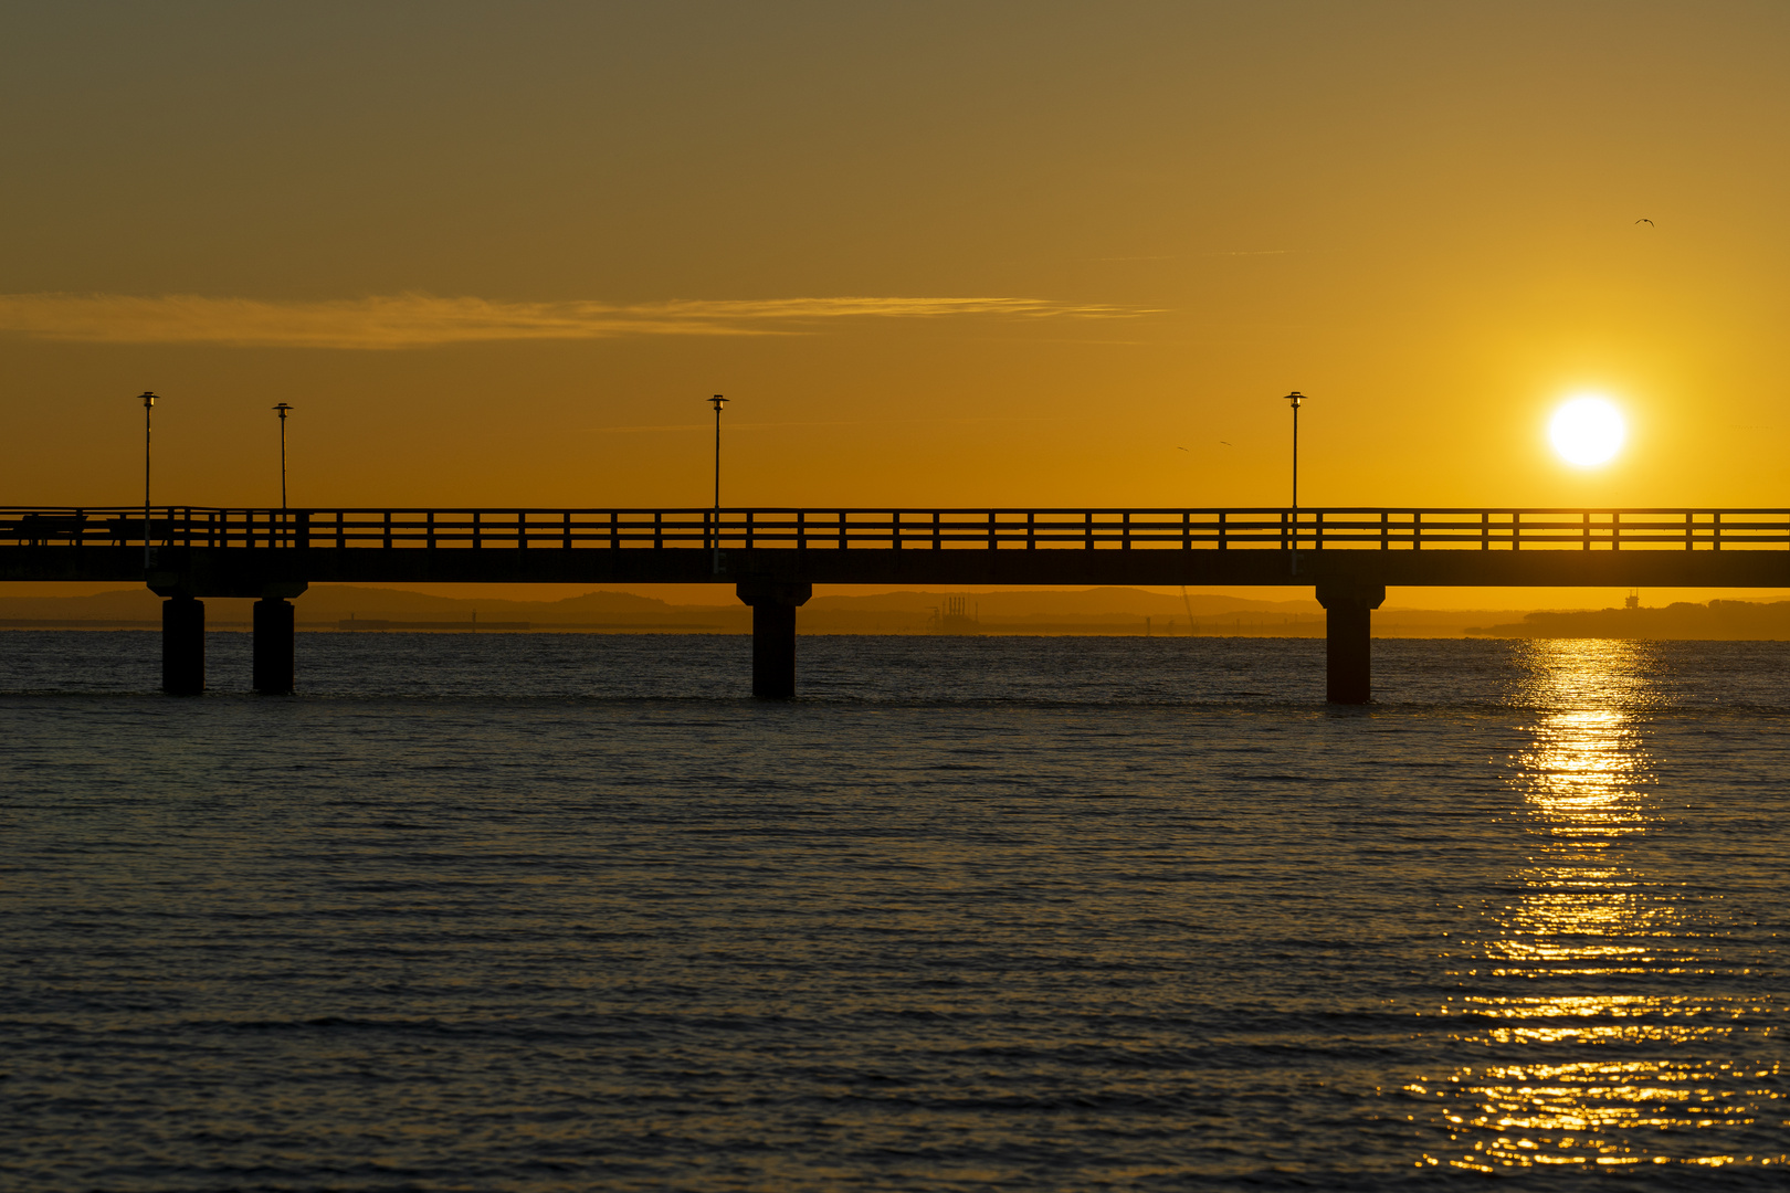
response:
<path fill-rule="evenodd" d="M 1781 4 L 9 4 L 0 503 L 1785 506 Z M 1647 220 L 1647 222 L 1638 222 Z M 1570 395 L 1629 438 L 1547 440 Z"/>

